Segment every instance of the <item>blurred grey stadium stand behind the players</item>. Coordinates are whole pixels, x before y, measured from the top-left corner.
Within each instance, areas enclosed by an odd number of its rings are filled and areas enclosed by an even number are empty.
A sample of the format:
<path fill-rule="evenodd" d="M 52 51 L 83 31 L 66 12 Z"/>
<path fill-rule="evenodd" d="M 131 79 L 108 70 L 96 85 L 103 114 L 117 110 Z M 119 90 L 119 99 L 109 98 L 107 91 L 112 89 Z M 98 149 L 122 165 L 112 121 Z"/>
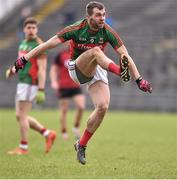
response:
<path fill-rule="evenodd" d="M 63 8 L 49 14 L 41 22 L 41 37 L 47 40 L 59 31 L 63 27 L 63 15 L 71 10 L 75 12 L 76 20 L 84 17 L 87 2 L 89 0 L 85 0 L 84 3 L 82 0 L 65 1 Z M 116 29 L 143 77 L 148 79 L 153 86 L 153 93 L 145 94 L 138 90 L 133 81 L 124 84 L 116 76 L 109 76 L 112 82 L 110 83 L 110 108 L 176 112 L 177 1 L 101 0 L 101 2 L 105 4 L 109 15 L 116 21 Z M 79 11 L 75 11 L 78 7 Z M 9 23 L 12 19 L 11 17 Z M 3 29 L 5 27 L 4 24 Z M 12 29 L 8 33 L 1 31 L 0 37 L 8 37 L 9 33 L 14 33 Z M 9 47 L 0 49 L 0 107 L 12 107 L 14 104 L 16 78 L 6 81 L 3 73 L 4 69 L 16 59 L 17 46 L 18 41 L 16 40 Z M 57 51 L 58 48 L 49 52 L 48 66 Z M 110 47 L 106 52 L 109 57 L 117 59 Z M 46 93 L 45 107 L 55 107 L 56 99 L 50 88 L 49 80 L 47 80 Z M 87 101 L 87 107 L 91 107 L 90 99 Z"/>

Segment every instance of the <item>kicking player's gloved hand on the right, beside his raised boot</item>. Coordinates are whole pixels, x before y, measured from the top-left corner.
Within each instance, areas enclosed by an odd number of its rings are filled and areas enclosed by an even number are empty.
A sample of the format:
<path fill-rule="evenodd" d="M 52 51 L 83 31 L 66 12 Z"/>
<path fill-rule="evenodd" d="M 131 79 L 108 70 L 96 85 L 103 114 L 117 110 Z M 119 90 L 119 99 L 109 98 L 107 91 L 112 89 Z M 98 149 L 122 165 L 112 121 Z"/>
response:
<path fill-rule="evenodd" d="M 141 76 L 136 80 L 136 83 L 140 90 L 152 93 L 152 87 L 150 83 L 147 80 L 143 79 Z"/>

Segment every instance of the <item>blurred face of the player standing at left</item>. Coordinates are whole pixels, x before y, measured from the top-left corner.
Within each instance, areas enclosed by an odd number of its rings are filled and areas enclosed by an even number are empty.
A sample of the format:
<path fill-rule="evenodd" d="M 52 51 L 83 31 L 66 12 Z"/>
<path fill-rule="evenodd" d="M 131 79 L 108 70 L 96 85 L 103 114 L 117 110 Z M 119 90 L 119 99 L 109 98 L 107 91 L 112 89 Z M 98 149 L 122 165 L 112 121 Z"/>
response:
<path fill-rule="evenodd" d="M 38 28 L 36 24 L 27 24 L 24 27 L 24 33 L 25 33 L 25 37 L 26 39 L 33 39 L 36 37 L 38 32 Z"/>

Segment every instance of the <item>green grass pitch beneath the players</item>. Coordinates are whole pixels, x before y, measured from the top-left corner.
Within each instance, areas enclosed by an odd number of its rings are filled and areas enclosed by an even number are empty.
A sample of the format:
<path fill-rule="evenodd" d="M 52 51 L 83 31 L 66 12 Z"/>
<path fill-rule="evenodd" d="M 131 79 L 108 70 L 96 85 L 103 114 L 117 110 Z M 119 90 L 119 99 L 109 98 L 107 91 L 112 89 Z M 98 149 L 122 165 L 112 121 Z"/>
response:
<path fill-rule="evenodd" d="M 10 156 L 19 143 L 14 110 L 0 110 L 0 179 L 177 178 L 177 114 L 109 111 L 88 144 L 87 164 L 79 164 L 71 132 L 74 112 L 68 114 L 70 138 L 62 140 L 57 110 L 31 115 L 57 131 L 49 154 L 44 138 L 30 130 L 29 155 Z M 89 112 L 84 113 L 82 130 Z"/>

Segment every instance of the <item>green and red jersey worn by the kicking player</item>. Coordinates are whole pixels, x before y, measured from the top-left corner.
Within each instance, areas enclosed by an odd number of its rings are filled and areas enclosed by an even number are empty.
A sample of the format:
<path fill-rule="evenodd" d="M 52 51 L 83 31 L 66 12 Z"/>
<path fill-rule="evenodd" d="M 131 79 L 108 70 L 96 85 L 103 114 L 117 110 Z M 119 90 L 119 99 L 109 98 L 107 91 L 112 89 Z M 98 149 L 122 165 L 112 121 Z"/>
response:
<path fill-rule="evenodd" d="M 57 36 L 62 42 L 70 40 L 71 58 L 73 60 L 84 51 L 96 46 L 104 51 L 108 43 L 114 49 L 123 45 L 119 35 L 108 24 L 105 23 L 103 28 L 95 32 L 90 29 L 87 19 L 67 26 L 58 32 Z"/>

